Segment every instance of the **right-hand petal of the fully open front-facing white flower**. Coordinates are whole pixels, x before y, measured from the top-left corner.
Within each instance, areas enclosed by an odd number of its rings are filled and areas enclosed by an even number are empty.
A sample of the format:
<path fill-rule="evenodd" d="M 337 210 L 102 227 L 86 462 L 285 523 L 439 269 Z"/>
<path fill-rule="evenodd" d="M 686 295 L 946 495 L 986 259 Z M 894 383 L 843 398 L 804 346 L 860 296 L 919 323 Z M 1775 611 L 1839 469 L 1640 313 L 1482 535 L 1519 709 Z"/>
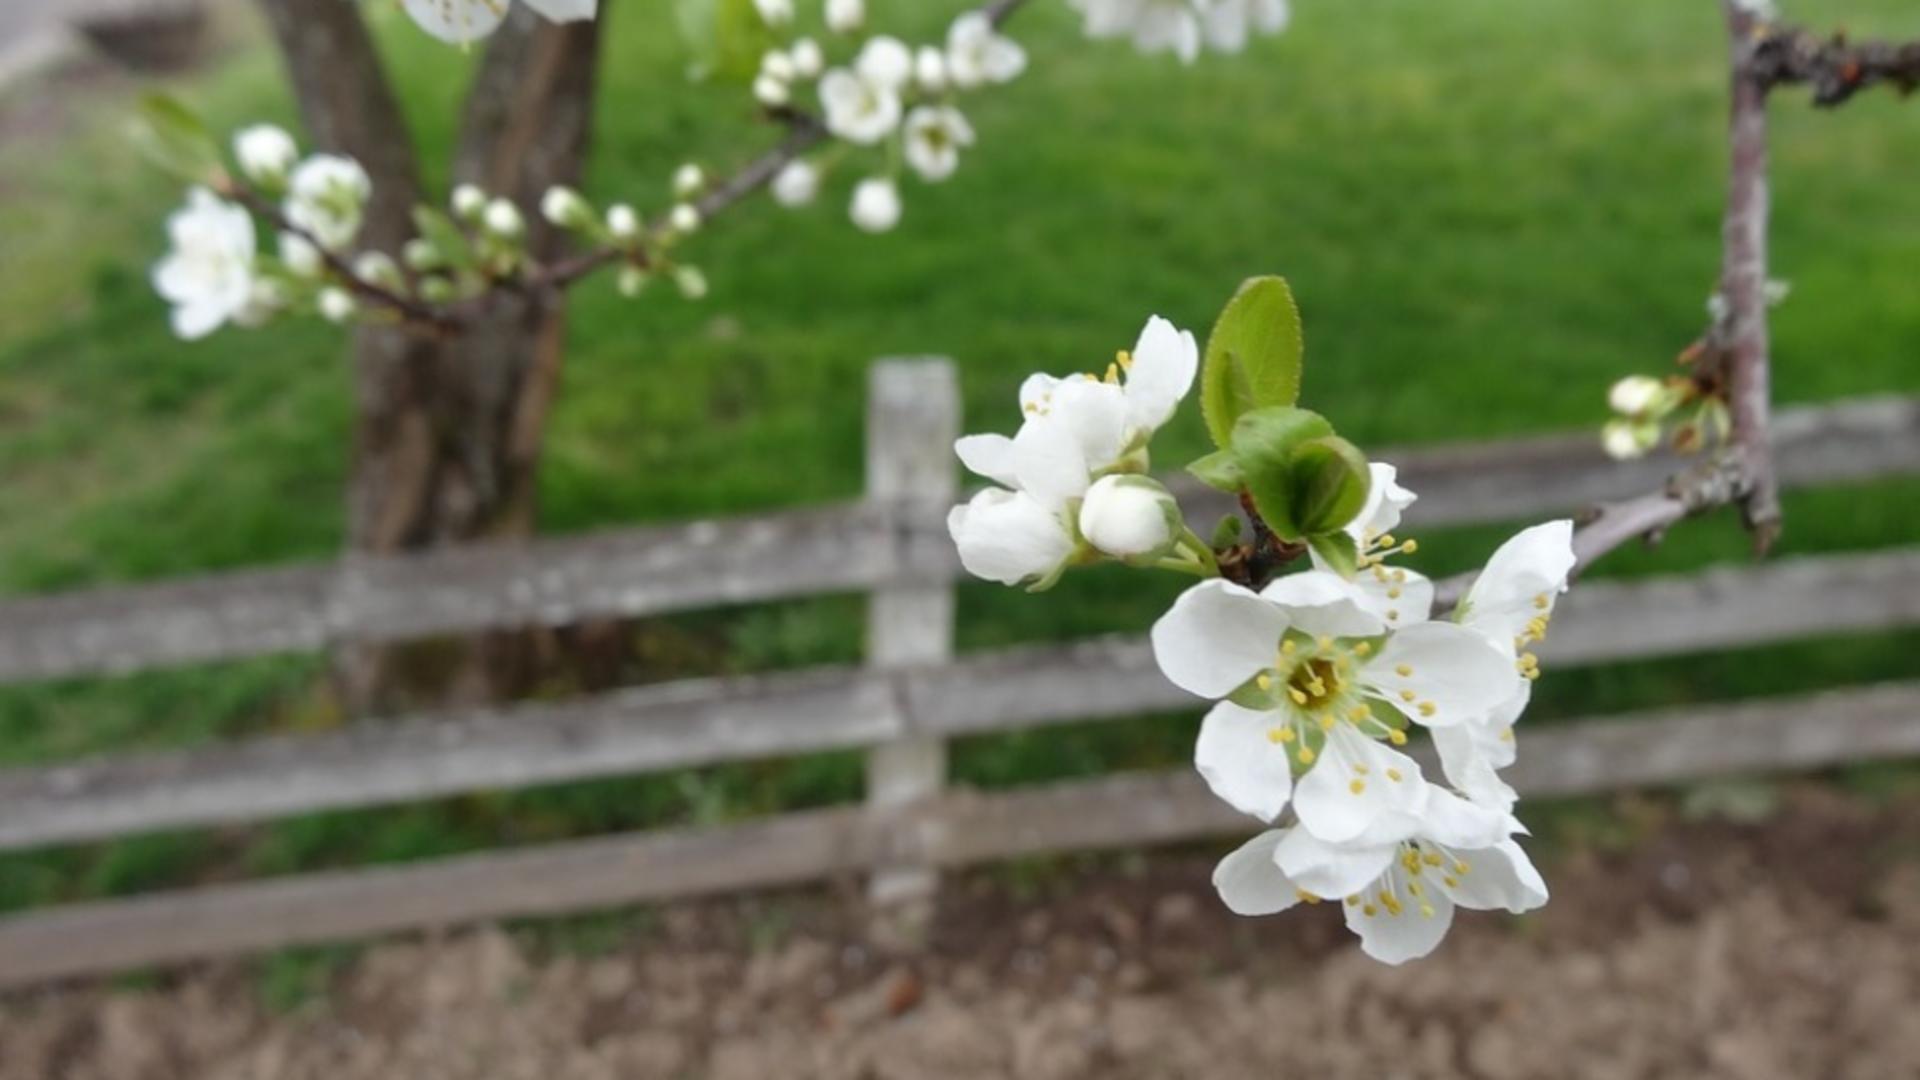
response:
<path fill-rule="evenodd" d="M 1419 623 L 1388 638 L 1359 678 L 1413 723 L 1438 728 L 1482 719 L 1505 701 L 1513 659 L 1476 630 Z"/>

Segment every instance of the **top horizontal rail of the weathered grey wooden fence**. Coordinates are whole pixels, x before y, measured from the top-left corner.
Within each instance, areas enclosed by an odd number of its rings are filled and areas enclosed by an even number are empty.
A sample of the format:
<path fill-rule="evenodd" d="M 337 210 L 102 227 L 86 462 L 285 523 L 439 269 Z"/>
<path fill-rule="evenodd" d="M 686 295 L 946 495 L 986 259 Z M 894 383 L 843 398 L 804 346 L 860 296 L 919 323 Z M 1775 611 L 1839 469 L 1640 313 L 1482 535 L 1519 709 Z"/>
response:
<path fill-rule="evenodd" d="M 1786 409 L 1784 484 L 1920 471 L 1920 400 Z M 1594 434 L 1384 452 L 1423 527 L 1567 513 L 1647 490 L 1672 461 L 1609 461 Z M 1219 500 L 1173 480 L 1202 513 Z M 937 540 L 937 542 L 933 542 Z M 945 515 L 858 502 L 522 546 L 363 557 L 0 603 L 0 682 L 309 651 L 336 642 L 566 625 L 950 580 Z"/>

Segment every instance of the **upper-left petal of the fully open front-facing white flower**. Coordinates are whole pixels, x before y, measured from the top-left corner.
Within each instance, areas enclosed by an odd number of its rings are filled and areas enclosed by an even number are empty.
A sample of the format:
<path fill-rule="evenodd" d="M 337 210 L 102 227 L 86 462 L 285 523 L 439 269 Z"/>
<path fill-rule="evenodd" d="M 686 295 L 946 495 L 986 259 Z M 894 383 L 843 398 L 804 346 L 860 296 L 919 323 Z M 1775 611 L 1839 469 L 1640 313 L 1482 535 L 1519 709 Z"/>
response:
<path fill-rule="evenodd" d="M 1204 580 L 1154 623 L 1154 659 L 1169 682 L 1202 698 L 1225 698 L 1273 667 L 1286 613 L 1252 590 Z"/>

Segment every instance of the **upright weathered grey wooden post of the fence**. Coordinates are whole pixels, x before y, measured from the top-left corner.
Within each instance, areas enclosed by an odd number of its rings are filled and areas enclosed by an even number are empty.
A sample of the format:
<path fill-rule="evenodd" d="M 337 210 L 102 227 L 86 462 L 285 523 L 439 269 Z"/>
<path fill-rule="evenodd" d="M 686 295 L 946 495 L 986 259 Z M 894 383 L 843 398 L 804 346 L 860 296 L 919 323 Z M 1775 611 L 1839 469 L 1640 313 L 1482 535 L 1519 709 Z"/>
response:
<path fill-rule="evenodd" d="M 868 380 L 866 494 L 891 503 L 897 565 L 912 575 L 924 559 L 910 523 L 939 521 L 956 496 L 952 444 L 960 434 L 960 392 L 948 359 L 883 359 Z M 876 669 L 939 663 L 952 657 L 954 592 L 948 580 L 902 580 L 868 600 L 866 655 Z M 906 703 L 902 700 L 900 707 Z M 912 721 L 912 717 L 904 717 Z M 908 723 L 908 726 L 912 726 Z M 868 807 L 887 811 L 939 796 L 947 784 L 947 744 L 906 736 L 876 746 L 866 757 Z M 874 867 L 868 899 L 874 936 L 918 944 L 933 915 L 939 872 L 893 863 Z"/>

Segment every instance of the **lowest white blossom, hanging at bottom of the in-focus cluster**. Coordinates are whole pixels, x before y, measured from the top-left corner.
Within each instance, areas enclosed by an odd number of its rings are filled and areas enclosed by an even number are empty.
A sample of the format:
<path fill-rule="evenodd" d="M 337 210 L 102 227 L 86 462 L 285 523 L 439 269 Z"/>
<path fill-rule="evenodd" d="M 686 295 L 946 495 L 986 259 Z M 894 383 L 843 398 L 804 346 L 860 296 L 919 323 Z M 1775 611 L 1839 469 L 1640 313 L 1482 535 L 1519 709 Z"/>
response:
<path fill-rule="evenodd" d="M 1457 907 L 1521 915 L 1548 901 L 1513 832 L 1511 817 L 1434 788 L 1421 813 L 1386 817 L 1350 844 L 1300 826 L 1261 832 L 1219 861 L 1213 888 L 1236 915 L 1338 897 L 1361 951 L 1402 965 L 1440 945 Z"/>

